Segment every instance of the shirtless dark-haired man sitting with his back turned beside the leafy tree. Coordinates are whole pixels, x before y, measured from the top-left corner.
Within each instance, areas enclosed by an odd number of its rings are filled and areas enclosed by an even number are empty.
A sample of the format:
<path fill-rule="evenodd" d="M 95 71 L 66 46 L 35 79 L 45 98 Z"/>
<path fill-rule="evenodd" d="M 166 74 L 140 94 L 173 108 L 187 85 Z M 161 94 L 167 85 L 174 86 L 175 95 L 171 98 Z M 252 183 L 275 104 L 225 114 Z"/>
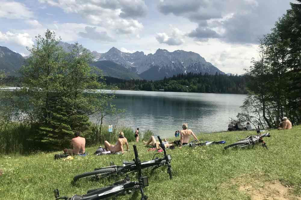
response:
<path fill-rule="evenodd" d="M 71 140 L 71 148 L 73 149 L 64 149 L 64 153 L 69 155 L 82 155 L 85 154 L 85 144 L 86 139 L 80 136 L 79 131 L 74 132 L 74 138 Z"/>

